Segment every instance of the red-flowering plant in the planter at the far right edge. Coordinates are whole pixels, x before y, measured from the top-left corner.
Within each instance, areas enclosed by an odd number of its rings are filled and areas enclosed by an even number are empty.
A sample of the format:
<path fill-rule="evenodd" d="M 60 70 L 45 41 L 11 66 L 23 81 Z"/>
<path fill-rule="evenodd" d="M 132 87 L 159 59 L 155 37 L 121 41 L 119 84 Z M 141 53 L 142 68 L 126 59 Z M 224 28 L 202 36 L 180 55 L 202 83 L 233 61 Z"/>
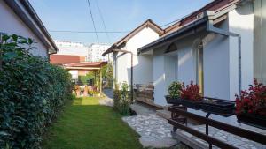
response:
<path fill-rule="evenodd" d="M 266 86 L 254 79 L 254 85 L 250 85 L 248 91 L 241 91 L 236 95 L 236 113 L 255 113 L 266 115 Z"/>

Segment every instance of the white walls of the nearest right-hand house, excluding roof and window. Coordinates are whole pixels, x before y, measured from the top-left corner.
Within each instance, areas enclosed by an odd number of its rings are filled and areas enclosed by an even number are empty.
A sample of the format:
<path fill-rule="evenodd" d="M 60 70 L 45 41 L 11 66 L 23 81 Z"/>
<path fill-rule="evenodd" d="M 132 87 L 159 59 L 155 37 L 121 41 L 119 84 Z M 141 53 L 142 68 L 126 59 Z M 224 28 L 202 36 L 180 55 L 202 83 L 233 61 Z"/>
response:
<path fill-rule="evenodd" d="M 245 4 L 237 10 L 230 11 L 228 19 L 215 25 L 224 31 L 231 31 L 241 35 L 242 42 L 242 89 L 247 89 L 253 81 L 253 9 L 252 4 Z M 189 84 L 196 81 L 196 62 L 194 58 L 193 42 L 203 41 L 203 76 L 204 96 L 225 100 L 235 100 L 235 93 L 239 93 L 238 73 L 238 39 L 214 33 L 193 34 L 181 41 L 175 41 L 178 56 L 178 80 Z M 168 73 L 171 63 L 164 54 L 167 47 L 153 50 L 153 83 L 154 102 L 166 105 L 164 95 L 168 94 Z M 164 68 L 162 68 L 164 67 Z M 172 79 L 173 80 L 173 79 Z"/>

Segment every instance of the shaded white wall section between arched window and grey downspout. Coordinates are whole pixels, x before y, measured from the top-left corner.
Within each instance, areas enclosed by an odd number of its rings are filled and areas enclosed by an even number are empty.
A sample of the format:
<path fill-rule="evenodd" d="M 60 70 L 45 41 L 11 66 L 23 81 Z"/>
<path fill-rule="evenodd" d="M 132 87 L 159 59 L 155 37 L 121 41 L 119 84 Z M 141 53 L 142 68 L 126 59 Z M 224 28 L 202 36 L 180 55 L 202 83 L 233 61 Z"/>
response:
<path fill-rule="evenodd" d="M 215 27 L 228 31 L 228 20 Z M 231 100 L 229 38 L 208 33 L 203 42 L 204 95 Z"/>

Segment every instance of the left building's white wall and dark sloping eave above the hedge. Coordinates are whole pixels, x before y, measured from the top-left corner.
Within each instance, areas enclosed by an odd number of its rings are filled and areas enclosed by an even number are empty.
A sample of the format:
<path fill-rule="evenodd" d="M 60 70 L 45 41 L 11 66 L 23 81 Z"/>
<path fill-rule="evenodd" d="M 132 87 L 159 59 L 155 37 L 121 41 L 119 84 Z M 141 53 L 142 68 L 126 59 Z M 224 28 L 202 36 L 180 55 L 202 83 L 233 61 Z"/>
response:
<path fill-rule="evenodd" d="M 31 52 L 48 57 L 57 52 L 57 47 L 41 19 L 27 0 L 0 0 L 0 34 L 18 34 L 35 40 Z"/>

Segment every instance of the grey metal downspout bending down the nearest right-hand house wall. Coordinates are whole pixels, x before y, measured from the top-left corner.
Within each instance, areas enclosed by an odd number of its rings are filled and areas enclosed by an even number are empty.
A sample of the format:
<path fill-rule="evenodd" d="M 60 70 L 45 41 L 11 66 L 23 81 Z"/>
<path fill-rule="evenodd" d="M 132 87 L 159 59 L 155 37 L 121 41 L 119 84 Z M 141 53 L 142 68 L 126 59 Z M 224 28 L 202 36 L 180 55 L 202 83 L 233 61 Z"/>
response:
<path fill-rule="evenodd" d="M 209 19 L 207 20 L 207 31 L 208 32 L 212 32 L 215 34 L 221 34 L 224 36 L 231 36 L 231 37 L 237 37 L 238 38 L 238 57 L 239 57 L 239 95 L 241 94 L 241 90 L 242 90 L 242 74 L 241 74 L 241 35 L 240 34 L 236 34 L 236 33 L 231 33 L 229 31 L 225 31 L 221 28 L 217 28 L 214 26 L 214 21 L 213 19 L 215 18 L 215 13 L 213 11 L 207 11 L 207 15 L 209 17 Z"/>

